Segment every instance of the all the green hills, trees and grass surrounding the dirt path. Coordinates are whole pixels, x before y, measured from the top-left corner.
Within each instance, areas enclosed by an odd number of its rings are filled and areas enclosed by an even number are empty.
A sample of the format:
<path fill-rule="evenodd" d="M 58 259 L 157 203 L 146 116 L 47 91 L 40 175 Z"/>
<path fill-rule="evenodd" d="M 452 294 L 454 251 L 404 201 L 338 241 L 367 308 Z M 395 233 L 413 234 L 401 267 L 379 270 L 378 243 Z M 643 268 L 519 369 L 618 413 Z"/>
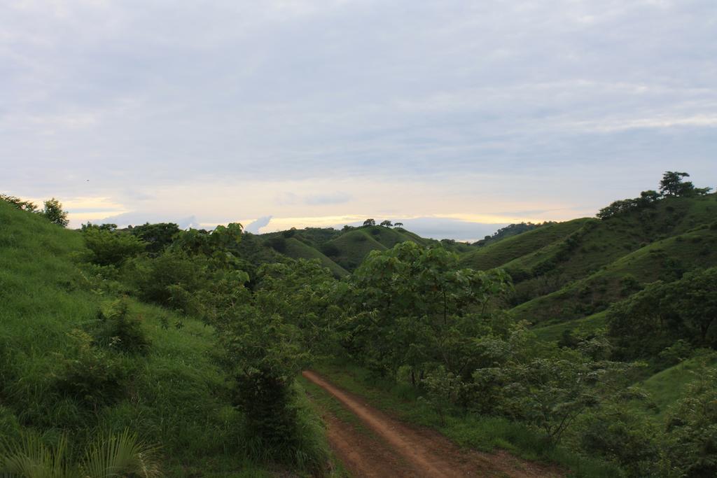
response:
<path fill-rule="evenodd" d="M 313 371 L 530 476 L 717 476 L 717 195 L 688 176 L 474 244 L 72 230 L 1 195 L 0 474 L 346 476 Z"/>

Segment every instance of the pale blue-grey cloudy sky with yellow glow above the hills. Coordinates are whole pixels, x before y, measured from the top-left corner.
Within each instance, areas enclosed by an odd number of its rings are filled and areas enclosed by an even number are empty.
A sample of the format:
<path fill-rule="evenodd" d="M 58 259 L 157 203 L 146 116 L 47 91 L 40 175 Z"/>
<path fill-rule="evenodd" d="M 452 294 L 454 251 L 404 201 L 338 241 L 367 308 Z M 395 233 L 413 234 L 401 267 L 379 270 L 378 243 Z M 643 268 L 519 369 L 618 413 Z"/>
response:
<path fill-rule="evenodd" d="M 717 2 L 0 2 L 0 192 L 475 240 L 717 186 Z"/>

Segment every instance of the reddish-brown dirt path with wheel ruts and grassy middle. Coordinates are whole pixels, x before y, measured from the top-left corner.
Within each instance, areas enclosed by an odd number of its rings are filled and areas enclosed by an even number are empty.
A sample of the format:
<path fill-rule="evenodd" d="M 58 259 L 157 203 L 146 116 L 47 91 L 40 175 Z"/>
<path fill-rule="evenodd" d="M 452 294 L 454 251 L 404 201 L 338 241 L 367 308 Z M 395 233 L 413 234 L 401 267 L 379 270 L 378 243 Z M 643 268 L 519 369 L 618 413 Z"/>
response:
<path fill-rule="evenodd" d="M 436 431 L 391 418 L 315 372 L 305 371 L 303 376 L 331 393 L 378 437 L 371 439 L 333 416 L 325 417 L 331 446 L 356 477 L 561 476 L 556 469 L 516 459 L 505 451 L 462 450 Z"/>

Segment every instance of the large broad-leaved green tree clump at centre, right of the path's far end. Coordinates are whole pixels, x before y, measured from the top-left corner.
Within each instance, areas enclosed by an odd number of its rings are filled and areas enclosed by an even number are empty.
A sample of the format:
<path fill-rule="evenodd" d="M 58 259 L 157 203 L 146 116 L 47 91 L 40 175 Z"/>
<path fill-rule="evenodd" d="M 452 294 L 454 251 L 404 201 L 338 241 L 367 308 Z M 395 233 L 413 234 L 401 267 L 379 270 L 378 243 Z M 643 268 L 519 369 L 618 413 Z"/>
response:
<path fill-rule="evenodd" d="M 470 375 L 482 314 L 508 287 L 502 271 L 457 269 L 457 256 L 443 248 L 404 242 L 371 252 L 343 297 L 343 345 L 379 373 L 407 365 L 415 375 L 440 363 Z"/>

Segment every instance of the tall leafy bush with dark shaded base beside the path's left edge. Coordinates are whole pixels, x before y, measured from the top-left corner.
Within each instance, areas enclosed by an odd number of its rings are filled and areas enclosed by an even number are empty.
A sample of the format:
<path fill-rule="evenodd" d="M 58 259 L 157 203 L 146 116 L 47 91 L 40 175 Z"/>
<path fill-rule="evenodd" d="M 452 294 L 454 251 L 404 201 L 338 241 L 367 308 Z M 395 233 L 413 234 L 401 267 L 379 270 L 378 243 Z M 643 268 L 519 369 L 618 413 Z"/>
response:
<path fill-rule="evenodd" d="M 331 283 L 331 272 L 315 261 L 267 264 L 252 295 L 225 302 L 212 320 L 236 383 L 234 404 L 247 434 L 267 450 L 301 446 L 293 383 L 328 338 L 332 306 L 322 290 Z"/>

